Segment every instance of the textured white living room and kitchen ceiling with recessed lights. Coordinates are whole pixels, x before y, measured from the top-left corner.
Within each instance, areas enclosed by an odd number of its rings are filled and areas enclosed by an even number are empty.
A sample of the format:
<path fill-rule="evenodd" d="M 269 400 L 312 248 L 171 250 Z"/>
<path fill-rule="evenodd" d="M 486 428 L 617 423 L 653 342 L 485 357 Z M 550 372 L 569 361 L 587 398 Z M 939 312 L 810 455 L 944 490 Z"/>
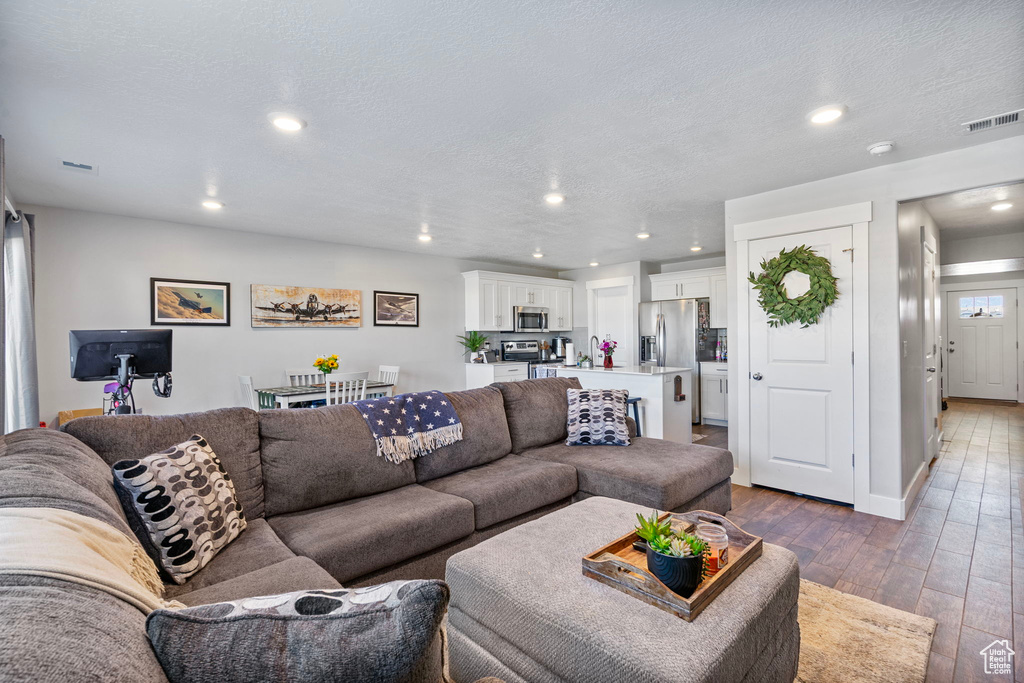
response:
<path fill-rule="evenodd" d="M 1020 134 L 958 124 L 1024 106 L 1022 82 L 1020 0 L 0 12 L 16 201 L 560 269 L 721 252 L 725 199 Z M 806 122 L 834 101 L 839 123 Z M 278 132 L 281 111 L 308 128 Z M 885 139 L 897 151 L 869 157 Z"/>

